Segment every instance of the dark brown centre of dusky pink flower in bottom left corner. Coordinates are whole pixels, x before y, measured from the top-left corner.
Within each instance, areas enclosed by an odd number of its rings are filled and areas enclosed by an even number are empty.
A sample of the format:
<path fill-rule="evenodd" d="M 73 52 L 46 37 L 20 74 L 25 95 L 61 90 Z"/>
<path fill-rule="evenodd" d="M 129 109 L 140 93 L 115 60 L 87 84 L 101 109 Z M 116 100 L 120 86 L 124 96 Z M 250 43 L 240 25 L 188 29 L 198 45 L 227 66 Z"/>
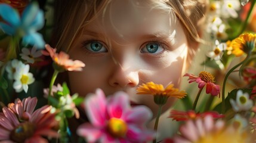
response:
<path fill-rule="evenodd" d="M 33 136 L 35 132 L 35 125 L 30 122 L 24 122 L 18 125 L 15 129 L 13 129 L 10 133 L 10 139 L 14 142 L 24 142 L 30 136 Z"/>

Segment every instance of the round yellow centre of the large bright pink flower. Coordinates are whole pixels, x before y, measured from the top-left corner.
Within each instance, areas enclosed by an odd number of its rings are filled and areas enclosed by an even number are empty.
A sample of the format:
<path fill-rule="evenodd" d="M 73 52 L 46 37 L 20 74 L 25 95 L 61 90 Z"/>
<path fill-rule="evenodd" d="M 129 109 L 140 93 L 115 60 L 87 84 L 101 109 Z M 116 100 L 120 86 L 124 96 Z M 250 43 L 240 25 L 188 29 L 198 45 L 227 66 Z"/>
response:
<path fill-rule="evenodd" d="M 115 138 L 121 138 L 127 133 L 127 124 L 121 119 L 112 118 L 107 124 L 107 129 Z"/>

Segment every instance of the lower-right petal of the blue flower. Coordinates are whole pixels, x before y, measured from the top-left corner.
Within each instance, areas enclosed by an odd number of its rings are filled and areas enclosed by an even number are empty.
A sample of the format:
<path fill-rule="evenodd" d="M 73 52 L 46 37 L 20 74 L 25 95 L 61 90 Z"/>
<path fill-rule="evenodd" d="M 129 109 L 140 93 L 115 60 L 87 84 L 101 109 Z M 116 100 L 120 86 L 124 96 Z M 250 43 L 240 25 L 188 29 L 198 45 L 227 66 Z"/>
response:
<path fill-rule="evenodd" d="M 39 33 L 29 33 L 28 35 L 24 36 L 22 39 L 23 44 L 29 44 L 32 46 L 36 46 L 37 48 L 44 48 L 45 42 L 44 38 Z"/>

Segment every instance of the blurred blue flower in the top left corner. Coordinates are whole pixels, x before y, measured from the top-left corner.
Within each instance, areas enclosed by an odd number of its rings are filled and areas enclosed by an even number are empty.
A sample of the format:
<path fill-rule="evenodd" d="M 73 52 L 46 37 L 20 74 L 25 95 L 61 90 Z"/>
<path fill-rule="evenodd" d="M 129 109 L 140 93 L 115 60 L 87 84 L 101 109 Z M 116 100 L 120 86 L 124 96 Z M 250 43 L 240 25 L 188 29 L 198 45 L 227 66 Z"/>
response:
<path fill-rule="evenodd" d="M 45 42 L 42 35 L 36 32 L 44 26 L 44 13 L 38 4 L 33 2 L 23 11 L 21 16 L 8 4 L 0 4 L 0 16 L 5 23 L 0 22 L 0 29 L 8 35 L 17 35 L 22 38 L 22 43 L 44 48 Z"/>

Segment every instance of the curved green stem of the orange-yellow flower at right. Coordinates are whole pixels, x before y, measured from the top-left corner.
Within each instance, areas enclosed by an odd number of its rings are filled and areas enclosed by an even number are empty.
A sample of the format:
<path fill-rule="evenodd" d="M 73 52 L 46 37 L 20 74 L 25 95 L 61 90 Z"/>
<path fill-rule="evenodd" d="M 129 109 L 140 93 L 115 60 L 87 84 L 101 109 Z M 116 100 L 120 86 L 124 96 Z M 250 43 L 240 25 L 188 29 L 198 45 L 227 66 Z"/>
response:
<path fill-rule="evenodd" d="M 241 66 L 243 63 L 245 63 L 245 61 L 247 61 L 249 58 L 249 55 L 247 55 L 247 57 L 245 58 L 245 60 L 241 61 L 239 64 L 237 64 L 236 66 L 232 67 L 232 69 L 230 69 L 226 76 L 224 77 L 224 80 L 223 80 L 223 86 L 222 86 L 222 109 L 221 109 L 221 113 L 224 114 L 224 111 L 225 111 L 225 88 L 226 88 L 226 82 L 227 82 L 227 78 L 229 77 L 230 73 L 233 72 L 233 70 L 235 70 L 236 68 L 238 68 L 239 66 Z"/>

